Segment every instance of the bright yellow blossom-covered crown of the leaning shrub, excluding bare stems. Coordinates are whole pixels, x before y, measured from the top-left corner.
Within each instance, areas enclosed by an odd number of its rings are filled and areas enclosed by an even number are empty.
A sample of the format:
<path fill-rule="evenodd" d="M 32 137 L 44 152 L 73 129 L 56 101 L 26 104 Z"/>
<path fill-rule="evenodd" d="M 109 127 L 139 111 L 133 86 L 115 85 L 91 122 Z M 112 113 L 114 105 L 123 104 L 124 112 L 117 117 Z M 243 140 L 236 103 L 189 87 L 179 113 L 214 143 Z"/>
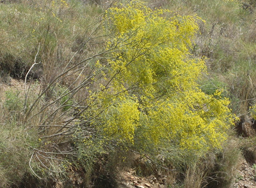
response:
<path fill-rule="evenodd" d="M 166 13 L 139 1 L 106 12 L 107 48 L 115 50 L 97 63 L 104 84 L 93 97 L 95 124 L 106 139 L 140 149 L 163 142 L 198 154 L 220 148 L 234 117 L 228 99 L 196 83 L 205 63 L 189 51 L 200 18 Z"/>

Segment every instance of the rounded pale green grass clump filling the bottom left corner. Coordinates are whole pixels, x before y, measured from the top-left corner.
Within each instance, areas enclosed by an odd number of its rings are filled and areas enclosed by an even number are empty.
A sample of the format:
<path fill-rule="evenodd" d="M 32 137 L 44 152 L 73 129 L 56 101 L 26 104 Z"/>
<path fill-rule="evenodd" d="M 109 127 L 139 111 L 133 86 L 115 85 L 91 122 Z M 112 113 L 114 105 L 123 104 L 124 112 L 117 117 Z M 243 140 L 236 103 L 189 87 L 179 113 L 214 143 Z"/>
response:
<path fill-rule="evenodd" d="M 1 111 L 3 113 L 3 111 Z M 32 173 L 29 159 L 36 145 L 36 132 L 17 120 L 0 124 L 0 187 L 19 185 L 26 173 Z"/>

